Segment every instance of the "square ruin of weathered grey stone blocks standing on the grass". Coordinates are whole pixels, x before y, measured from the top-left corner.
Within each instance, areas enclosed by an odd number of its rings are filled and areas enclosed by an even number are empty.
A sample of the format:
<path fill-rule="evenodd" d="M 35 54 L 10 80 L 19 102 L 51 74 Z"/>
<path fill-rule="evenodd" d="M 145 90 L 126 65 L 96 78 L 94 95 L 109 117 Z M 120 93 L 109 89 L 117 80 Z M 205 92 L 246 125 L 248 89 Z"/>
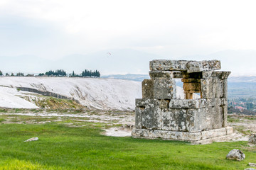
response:
<path fill-rule="evenodd" d="M 149 67 L 132 137 L 205 144 L 233 133 L 227 123 L 230 72 L 215 71 L 220 61 L 153 60 Z M 183 82 L 184 99 L 176 98 L 175 79 Z M 201 98 L 193 99 L 194 93 Z"/>

